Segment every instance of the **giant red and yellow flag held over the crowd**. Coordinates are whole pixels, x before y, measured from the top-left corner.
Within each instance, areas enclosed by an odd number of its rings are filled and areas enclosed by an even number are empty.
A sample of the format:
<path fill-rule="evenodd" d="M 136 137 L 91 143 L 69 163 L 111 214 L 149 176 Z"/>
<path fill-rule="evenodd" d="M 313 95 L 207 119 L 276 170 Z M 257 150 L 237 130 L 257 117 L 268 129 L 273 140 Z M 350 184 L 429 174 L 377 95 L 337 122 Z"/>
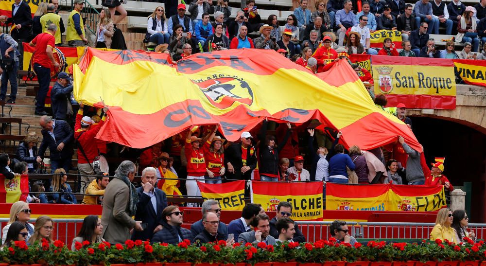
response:
<path fill-rule="evenodd" d="M 197 53 L 177 65 L 137 57 L 112 63 L 105 54 L 111 58 L 113 52 L 97 51 L 86 69 L 73 67 L 76 100 L 100 107 L 103 99 L 111 106 L 97 135 L 104 141 L 144 148 L 192 125 L 209 124 L 220 124 L 226 139 L 236 141 L 265 118 L 293 124 L 318 119 L 362 149 L 401 135 L 421 151 L 405 124 L 375 107 L 344 61 L 316 76 L 263 49 Z"/>

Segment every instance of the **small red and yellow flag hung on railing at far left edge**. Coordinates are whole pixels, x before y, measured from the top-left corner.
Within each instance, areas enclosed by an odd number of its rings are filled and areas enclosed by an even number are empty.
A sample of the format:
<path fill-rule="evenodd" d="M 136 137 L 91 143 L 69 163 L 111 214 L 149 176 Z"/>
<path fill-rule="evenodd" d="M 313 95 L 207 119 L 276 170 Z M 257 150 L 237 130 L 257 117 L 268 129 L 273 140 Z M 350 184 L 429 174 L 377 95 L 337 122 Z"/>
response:
<path fill-rule="evenodd" d="M 16 175 L 7 179 L 0 174 L 0 203 L 14 203 L 25 201 L 29 195 L 29 176 Z"/>

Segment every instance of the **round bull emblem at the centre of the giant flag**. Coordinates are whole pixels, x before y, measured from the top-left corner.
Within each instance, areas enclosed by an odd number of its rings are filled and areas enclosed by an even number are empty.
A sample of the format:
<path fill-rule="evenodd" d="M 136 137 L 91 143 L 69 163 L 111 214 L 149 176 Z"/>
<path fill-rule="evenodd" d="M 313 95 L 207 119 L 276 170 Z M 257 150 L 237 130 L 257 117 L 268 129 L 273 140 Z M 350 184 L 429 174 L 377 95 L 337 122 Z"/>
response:
<path fill-rule="evenodd" d="M 209 102 L 220 109 L 226 109 L 234 103 L 251 106 L 253 91 L 246 81 L 237 77 L 208 78 L 204 81 L 192 81 L 206 95 Z"/>

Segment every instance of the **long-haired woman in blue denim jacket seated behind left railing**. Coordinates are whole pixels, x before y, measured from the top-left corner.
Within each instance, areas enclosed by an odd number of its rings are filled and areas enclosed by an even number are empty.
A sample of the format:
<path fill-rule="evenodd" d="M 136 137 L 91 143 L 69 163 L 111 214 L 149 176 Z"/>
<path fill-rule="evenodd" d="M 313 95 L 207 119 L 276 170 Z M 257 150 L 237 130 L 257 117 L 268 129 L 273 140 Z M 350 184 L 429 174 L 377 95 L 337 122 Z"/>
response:
<path fill-rule="evenodd" d="M 68 175 L 63 168 L 57 168 L 52 175 L 52 183 L 49 192 L 53 192 L 52 203 L 77 204 L 76 196 L 71 194 L 71 186 L 67 183 Z"/>

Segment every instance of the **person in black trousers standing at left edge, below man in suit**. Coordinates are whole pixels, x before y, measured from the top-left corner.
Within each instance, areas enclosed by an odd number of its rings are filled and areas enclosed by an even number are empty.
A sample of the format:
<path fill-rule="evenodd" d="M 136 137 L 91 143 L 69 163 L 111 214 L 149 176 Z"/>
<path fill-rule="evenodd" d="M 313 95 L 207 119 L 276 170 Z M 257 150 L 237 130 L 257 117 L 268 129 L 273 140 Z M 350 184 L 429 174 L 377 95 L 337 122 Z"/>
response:
<path fill-rule="evenodd" d="M 1 64 L 1 88 L 0 88 L 0 101 L 5 100 L 7 94 L 7 85 L 10 81 L 10 96 L 6 104 L 15 104 L 17 99 L 17 72 L 18 72 L 18 55 L 17 42 L 8 34 L 0 34 L 0 54 L 4 57 L 4 63 Z M 10 65 L 6 65 L 8 59 L 12 59 Z"/>

